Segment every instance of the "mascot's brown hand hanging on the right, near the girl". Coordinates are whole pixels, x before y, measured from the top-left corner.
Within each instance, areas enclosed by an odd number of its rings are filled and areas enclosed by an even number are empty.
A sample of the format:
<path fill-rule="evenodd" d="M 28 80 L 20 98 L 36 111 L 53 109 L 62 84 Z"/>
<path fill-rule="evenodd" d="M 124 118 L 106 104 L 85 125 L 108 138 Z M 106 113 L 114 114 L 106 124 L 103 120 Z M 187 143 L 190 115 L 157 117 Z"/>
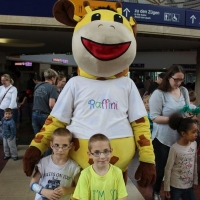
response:
<path fill-rule="evenodd" d="M 140 162 L 135 172 L 135 179 L 141 187 L 153 185 L 156 181 L 156 168 L 154 164 Z"/>

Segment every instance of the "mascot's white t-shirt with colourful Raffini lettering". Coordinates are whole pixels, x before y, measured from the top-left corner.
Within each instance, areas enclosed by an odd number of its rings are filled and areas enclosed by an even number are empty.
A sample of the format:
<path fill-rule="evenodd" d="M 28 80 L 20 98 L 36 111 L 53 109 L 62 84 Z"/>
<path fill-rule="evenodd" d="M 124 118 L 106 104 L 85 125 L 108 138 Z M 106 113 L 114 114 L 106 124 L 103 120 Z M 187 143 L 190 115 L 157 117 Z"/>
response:
<path fill-rule="evenodd" d="M 77 76 L 69 80 L 51 115 L 69 124 L 75 138 L 106 133 L 113 139 L 132 137 L 130 122 L 147 113 L 130 78 L 96 81 Z"/>

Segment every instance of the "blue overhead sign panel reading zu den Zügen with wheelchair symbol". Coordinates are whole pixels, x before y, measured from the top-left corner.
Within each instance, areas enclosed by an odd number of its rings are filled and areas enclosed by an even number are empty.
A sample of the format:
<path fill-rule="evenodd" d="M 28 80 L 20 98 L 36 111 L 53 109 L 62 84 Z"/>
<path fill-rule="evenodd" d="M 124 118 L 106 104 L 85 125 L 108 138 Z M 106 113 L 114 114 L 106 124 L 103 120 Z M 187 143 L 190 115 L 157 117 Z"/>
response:
<path fill-rule="evenodd" d="M 185 25 L 185 9 L 150 4 L 122 3 L 123 15 L 133 16 L 138 22 Z"/>

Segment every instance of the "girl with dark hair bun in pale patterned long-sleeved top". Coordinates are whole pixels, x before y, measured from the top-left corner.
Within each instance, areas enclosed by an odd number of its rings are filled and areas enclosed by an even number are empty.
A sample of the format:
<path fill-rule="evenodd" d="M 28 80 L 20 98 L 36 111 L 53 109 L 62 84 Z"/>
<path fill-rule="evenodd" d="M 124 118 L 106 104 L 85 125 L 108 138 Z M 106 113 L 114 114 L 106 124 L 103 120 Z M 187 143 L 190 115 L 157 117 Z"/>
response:
<path fill-rule="evenodd" d="M 198 185 L 197 121 L 175 113 L 169 118 L 169 126 L 177 130 L 181 138 L 169 150 L 165 167 L 165 196 L 170 200 L 196 200 L 193 188 Z"/>

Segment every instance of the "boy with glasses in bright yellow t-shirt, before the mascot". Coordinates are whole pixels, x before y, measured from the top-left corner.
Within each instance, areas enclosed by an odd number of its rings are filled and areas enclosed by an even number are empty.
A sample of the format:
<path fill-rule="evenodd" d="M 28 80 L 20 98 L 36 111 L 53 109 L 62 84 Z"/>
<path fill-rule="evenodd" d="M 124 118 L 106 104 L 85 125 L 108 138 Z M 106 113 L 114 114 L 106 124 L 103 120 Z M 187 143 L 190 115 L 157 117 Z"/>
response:
<path fill-rule="evenodd" d="M 73 198 L 127 200 L 122 171 L 109 163 L 112 155 L 109 139 L 100 133 L 93 135 L 87 153 L 93 164 L 81 172 Z"/>

